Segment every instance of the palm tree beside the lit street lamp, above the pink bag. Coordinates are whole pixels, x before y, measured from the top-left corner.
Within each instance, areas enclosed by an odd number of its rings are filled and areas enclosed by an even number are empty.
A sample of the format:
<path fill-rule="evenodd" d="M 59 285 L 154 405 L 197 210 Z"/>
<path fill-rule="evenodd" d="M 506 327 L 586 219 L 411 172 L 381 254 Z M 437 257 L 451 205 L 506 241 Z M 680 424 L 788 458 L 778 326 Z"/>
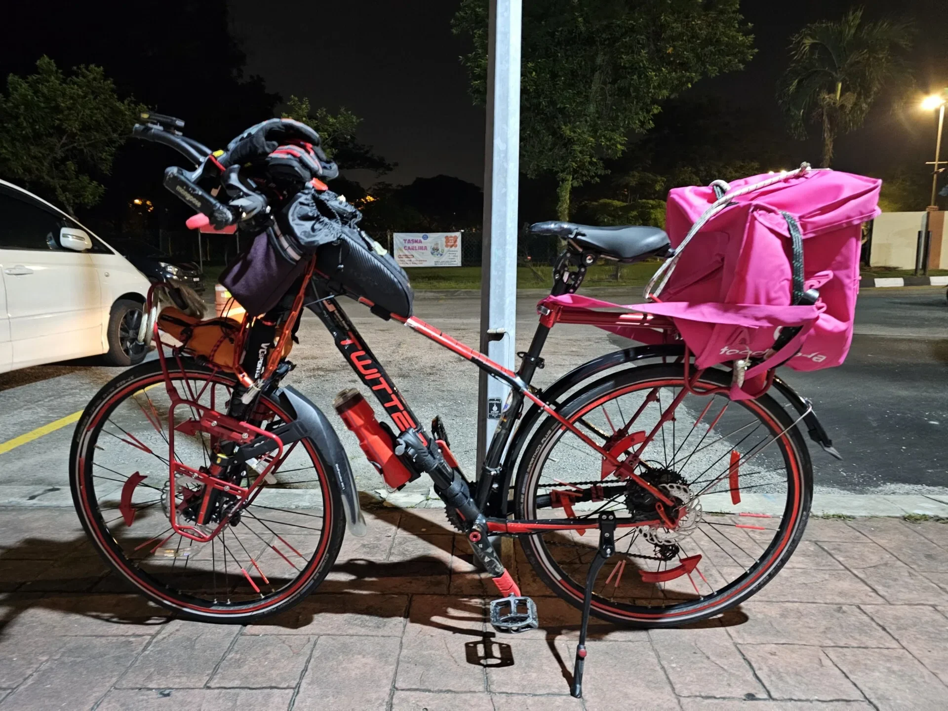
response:
<path fill-rule="evenodd" d="M 907 82 L 904 57 L 913 33 L 907 22 L 864 22 L 859 8 L 839 22 L 811 23 L 791 38 L 777 100 L 794 136 L 805 138 L 808 124 L 819 126 L 824 168 L 836 137 L 863 125 L 886 85 Z"/>

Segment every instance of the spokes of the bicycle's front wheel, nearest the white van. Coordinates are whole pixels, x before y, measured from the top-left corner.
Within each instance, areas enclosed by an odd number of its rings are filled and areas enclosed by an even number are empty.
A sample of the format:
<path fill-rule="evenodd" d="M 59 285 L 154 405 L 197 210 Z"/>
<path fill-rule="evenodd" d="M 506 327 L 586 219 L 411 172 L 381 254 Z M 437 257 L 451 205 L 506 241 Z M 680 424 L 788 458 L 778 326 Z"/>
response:
<path fill-rule="evenodd" d="M 227 409 L 232 390 L 212 377 L 194 377 L 184 371 L 172 371 L 172 377 L 174 391 L 191 401 L 179 408 L 182 419 L 200 420 L 200 408 Z M 267 429 L 282 424 L 283 415 L 264 402 L 268 401 L 262 396 L 253 410 L 254 422 Z M 279 457 L 270 453 L 261 458 L 277 484 L 262 481 L 254 493 L 305 488 L 300 508 L 297 501 L 282 506 L 287 495 L 281 494 L 273 499 L 261 496 L 259 503 L 249 501 L 245 508 L 234 510 L 234 494 L 217 490 L 206 499 L 199 477 L 179 473 L 175 486 L 170 486 L 169 456 L 206 475 L 206 463 L 215 452 L 212 447 L 217 446 L 216 438 L 202 435 L 200 429 L 193 436 L 174 432 L 172 439 L 171 411 L 169 393 L 158 374 L 151 382 L 130 389 L 124 399 L 113 401 L 97 420 L 99 424 L 83 435 L 85 485 L 90 510 L 99 515 L 98 522 L 93 519 L 94 530 L 100 530 L 97 538 L 114 541 L 112 545 L 118 546 L 141 584 L 157 591 L 156 599 L 176 606 L 211 610 L 281 599 L 301 575 L 316 570 L 312 561 L 327 550 L 322 537 L 333 525 L 331 501 L 323 496 L 325 479 L 314 448 L 300 441 L 284 447 Z M 244 465 L 232 466 L 232 471 L 222 470 L 219 476 L 227 472 L 227 482 L 239 485 L 253 481 L 253 472 Z M 139 476 L 146 480 L 137 481 Z M 136 486 L 130 508 L 123 508 L 129 504 L 119 504 L 118 498 L 129 501 L 126 486 L 131 487 L 130 480 Z M 134 523 L 126 526 L 129 515 L 134 515 Z M 235 525 L 225 522 L 228 517 L 233 517 L 230 522 Z"/>

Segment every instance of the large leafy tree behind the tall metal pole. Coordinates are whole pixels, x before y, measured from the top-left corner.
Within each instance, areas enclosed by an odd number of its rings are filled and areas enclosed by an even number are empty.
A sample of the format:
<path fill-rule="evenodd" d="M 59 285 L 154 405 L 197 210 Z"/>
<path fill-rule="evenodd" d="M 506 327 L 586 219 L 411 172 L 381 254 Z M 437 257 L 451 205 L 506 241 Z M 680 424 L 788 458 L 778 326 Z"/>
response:
<path fill-rule="evenodd" d="M 487 2 L 462 0 L 456 34 L 474 100 L 483 103 Z M 644 132 L 666 100 L 702 77 L 740 69 L 754 54 L 738 0 L 527 0 L 523 8 L 520 162 L 556 177 L 556 212 L 605 173 L 627 137 Z"/>

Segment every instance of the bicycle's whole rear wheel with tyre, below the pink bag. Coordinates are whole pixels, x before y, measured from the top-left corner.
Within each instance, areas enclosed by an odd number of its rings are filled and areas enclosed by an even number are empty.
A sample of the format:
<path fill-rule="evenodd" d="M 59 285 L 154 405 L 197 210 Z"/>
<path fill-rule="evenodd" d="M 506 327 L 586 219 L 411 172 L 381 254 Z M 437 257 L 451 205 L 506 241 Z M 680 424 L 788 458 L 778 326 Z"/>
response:
<path fill-rule="evenodd" d="M 730 374 L 705 371 L 699 385 L 728 386 Z M 683 365 L 649 365 L 603 377 L 559 413 L 619 460 L 647 442 L 635 473 L 685 512 L 671 530 L 616 530 L 615 555 L 593 584 L 594 615 L 648 627 L 697 622 L 756 593 L 793 554 L 809 517 L 812 466 L 793 420 L 769 395 L 697 395 L 684 389 Z M 614 469 L 548 417 L 520 460 L 517 517 L 654 515 L 655 498 Z M 576 607 L 598 543 L 596 531 L 585 534 L 520 538 L 543 582 Z"/>

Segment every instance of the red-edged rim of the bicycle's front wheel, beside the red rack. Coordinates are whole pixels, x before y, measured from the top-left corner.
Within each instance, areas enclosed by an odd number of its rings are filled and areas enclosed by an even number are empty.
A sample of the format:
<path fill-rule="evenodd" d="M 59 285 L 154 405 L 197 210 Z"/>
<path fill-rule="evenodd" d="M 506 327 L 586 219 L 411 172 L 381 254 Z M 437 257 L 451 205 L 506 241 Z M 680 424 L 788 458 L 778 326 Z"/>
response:
<path fill-rule="evenodd" d="M 194 399 L 203 406 L 223 409 L 232 381 L 179 374 L 174 385 L 200 393 Z M 115 393 L 89 419 L 78 466 L 82 515 L 93 537 L 120 574 L 171 607 L 237 614 L 279 604 L 317 574 L 327 550 L 332 498 L 319 455 L 308 441 L 286 447 L 276 483 L 264 486 L 240 520 L 209 543 L 192 541 L 173 533 L 168 518 L 168 402 L 161 374 L 153 374 Z M 271 426 L 285 419 L 265 400 L 258 414 Z M 180 408 L 175 418 L 182 419 Z M 174 444 L 179 461 L 208 461 L 207 440 L 175 432 Z M 146 479 L 129 483 L 135 473 Z M 123 511 L 126 488 L 131 499 Z M 294 508 L 301 503 L 307 508 Z"/>

